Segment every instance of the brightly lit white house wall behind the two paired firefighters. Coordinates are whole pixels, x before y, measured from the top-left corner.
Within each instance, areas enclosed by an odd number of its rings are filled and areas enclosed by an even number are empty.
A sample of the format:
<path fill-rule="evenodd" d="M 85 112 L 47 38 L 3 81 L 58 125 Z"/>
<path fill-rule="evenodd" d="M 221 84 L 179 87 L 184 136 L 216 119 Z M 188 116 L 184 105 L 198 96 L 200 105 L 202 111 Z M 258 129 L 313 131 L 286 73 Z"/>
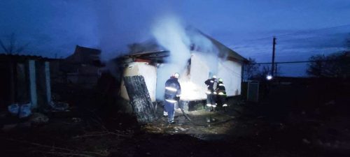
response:
<path fill-rule="evenodd" d="M 209 73 L 223 78 L 228 96 L 241 94 L 241 63 L 237 61 L 218 61 L 218 65 L 209 65 L 208 58 L 202 52 L 193 52 L 191 55 L 190 75 L 183 73 L 179 79 L 181 84 L 181 100 L 203 100 L 207 98 L 207 86 L 204 81 Z M 209 66 L 215 66 L 210 67 Z"/>

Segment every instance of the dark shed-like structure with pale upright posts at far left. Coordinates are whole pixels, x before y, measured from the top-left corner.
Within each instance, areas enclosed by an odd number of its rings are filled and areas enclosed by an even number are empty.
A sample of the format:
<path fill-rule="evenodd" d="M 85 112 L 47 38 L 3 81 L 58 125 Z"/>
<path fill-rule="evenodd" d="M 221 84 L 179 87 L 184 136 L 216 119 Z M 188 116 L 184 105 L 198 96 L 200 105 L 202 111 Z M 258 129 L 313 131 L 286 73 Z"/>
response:
<path fill-rule="evenodd" d="M 0 107 L 31 103 L 32 109 L 51 102 L 50 61 L 38 56 L 0 54 Z"/>

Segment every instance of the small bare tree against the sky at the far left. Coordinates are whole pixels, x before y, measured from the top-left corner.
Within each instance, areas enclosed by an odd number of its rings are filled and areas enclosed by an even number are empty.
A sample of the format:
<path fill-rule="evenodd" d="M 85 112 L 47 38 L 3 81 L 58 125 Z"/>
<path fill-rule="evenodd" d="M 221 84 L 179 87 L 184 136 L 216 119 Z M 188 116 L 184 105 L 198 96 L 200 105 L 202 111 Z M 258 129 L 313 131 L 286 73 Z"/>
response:
<path fill-rule="evenodd" d="M 15 33 L 11 33 L 6 40 L 8 41 L 7 45 L 0 39 L 0 46 L 6 54 L 20 54 L 29 45 L 29 43 L 18 45 L 17 36 L 15 36 Z"/>

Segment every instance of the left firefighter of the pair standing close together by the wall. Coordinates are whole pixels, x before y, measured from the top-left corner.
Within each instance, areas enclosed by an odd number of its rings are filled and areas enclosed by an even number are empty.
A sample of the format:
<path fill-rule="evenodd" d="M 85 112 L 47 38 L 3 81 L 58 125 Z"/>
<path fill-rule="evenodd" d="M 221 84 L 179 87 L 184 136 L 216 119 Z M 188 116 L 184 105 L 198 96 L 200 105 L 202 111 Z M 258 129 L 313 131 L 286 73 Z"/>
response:
<path fill-rule="evenodd" d="M 214 96 L 214 89 L 216 89 L 216 85 L 218 82 L 216 81 L 216 75 L 213 75 L 213 77 L 209 78 L 204 82 L 207 84 L 207 108 L 210 111 L 215 111 L 216 108 L 216 102 L 215 102 L 215 96 Z"/>

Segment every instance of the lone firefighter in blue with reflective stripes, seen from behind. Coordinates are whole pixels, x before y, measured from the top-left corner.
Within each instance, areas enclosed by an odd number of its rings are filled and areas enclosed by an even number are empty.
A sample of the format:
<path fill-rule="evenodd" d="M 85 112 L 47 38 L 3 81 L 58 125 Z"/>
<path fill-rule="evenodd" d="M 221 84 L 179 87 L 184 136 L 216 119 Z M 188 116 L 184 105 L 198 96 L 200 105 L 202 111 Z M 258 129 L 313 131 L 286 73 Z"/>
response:
<path fill-rule="evenodd" d="M 165 82 L 165 113 L 167 112 L 169 124 L 175 124 L 174 121 L 174 106 L 180 100 L 181 86 L 178 81 L 179 73 L 174 73 L 172 77 Z"/>

